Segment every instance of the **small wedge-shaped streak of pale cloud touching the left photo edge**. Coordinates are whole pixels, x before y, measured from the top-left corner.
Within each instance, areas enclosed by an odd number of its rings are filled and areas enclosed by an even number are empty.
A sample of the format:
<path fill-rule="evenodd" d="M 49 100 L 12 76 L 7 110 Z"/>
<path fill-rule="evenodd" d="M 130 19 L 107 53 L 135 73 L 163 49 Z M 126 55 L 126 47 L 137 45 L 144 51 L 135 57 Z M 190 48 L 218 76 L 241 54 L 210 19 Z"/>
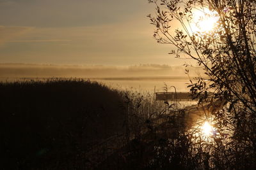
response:
<path fill-rule="evenodd" d="M 0 44 L 22 36 L 33 29 L 33 27 L 7 27 L 0 25 Z"/>

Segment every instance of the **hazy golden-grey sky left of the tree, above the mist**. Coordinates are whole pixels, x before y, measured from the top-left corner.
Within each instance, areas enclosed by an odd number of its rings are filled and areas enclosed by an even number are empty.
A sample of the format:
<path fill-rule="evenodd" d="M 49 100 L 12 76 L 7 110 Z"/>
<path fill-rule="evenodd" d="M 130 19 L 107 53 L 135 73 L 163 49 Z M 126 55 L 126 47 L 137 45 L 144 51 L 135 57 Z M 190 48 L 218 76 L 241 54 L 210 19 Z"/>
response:
<path fill-rule="evenodd" d="M 181 66 L 153 38 L 154 10 L 147 0 L 0 0 L 0 63 Z"/>

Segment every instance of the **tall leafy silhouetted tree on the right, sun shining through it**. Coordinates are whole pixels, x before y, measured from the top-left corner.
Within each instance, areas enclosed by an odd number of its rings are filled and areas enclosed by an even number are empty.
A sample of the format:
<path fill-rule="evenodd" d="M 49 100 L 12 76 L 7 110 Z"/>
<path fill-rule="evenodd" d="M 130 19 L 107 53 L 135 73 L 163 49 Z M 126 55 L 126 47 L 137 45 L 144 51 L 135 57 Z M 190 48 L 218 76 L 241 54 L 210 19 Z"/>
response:
<path fill-rule="evenodd" d="M 148 1 L 156 5 L 156 15 L 148 15 L 156 26 L 154 38 L 172 46 L 170 54 L 196 60 L 195 67 L 204 69 L 205 75 L 191 81 L 190 90 L 201 96 L 200 102 L 209 101 L 213 92 L 211 101 L 227 104 L 227 110 L 212 113 L 216 126 L 232 131 L 230 148 L 243 150 L 239 153 L 246 153 L 244 160 L 250 159 L 246 165 L 252 167 L 256 160 L 256 1 Z"/>

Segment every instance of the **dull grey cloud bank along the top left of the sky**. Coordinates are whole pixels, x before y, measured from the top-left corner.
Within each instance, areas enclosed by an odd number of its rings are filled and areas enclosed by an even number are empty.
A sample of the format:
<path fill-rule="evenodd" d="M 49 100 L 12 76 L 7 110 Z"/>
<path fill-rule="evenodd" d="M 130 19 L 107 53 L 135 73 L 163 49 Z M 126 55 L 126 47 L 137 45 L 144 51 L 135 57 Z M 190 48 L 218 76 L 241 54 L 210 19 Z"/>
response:
<path fill-rule="evenodd" d="M 35 27 L 101 25 L 129 20 L 145 4 L 138 0 L 0 0 L 0 20 L 3 25 Z"/>

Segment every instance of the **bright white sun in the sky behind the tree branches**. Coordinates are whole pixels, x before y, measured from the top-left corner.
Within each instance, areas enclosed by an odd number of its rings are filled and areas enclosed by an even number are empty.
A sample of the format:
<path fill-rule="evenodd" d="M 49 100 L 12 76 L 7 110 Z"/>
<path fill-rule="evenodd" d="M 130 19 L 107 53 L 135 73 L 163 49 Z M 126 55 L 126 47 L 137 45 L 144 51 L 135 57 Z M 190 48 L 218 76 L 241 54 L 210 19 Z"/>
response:
<path fill-rule="evenodd" d="M 216 15 L 216 13 L 207 9 L 204 11 L 194 11 L 193 16 L 194 17 L 191 24 L 192 32 L 211 32 L 219 20 L 219 17 Z"/>

